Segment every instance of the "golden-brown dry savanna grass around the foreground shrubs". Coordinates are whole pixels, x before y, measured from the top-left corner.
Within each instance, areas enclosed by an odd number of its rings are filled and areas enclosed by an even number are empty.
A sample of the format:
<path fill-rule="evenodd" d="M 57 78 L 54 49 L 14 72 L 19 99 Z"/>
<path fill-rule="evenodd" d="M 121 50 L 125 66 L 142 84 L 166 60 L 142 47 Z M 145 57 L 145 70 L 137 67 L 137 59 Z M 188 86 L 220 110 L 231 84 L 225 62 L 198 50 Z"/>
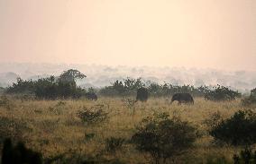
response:
<path fill-rule="evenodd" d="M 75 154 L 78 158 L 87 155 L 107 160 L 118 159 L 124 163 L 150 163 L 151 157 L 137 151 L 129 140 L 142 119 L 155 112 L 167 112 L 170 117 L 180 117 L 197 128 L 197 141 L 193 147 L 168 163 L 217 163 L 220 159 L 233 163 L 233 154 L 240 151 L 239 147 L 215 144 L 207 131 L 207 122 L 214 114 L 218 113 L 225 119 L 238 110 L 244 110 L 240 99 L 215 102 L 196 98 L 191 106 L 170 104 L 168 98 L 151 98 L 147 102 L 136 103 L 130 103 L 129 99 L 105 97 L 96 101 L 8 99 L 11 107 L 0 107 L 0 116 L 2 120 L 11 120 L 16 125 L 15 128 L 2 125 L 1 133 L 14 133 L 14 137 L 22 139 L 29 148 L 40 151 L 45 159 L 68 158 L 70 154 Z M 84 108 L 100 108 L 107 113 L 106 119 L 85 124 L 78 117 L 78 111 Z M 118 151 L 107 151 L 105 141 L 111 137 L 125 140 Z M 56 163 L 62 163 L 62 160 Z"/>

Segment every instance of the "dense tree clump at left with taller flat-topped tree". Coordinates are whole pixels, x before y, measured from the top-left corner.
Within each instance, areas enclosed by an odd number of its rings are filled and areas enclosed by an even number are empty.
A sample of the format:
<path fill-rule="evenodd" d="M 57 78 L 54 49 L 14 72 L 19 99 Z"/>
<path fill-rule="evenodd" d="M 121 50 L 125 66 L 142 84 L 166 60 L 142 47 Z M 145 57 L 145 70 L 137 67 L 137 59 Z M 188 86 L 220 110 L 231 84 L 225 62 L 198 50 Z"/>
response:
<path fill-rule="evenodd" d="M 84 78 L 86 75 L 78 70 L 68 70 L 60 74 L 59 78 L 50 76 L 37 81 L 23 81 L 18 78 L 6 93 L 32 94 L 37 99 L 68 99 L 79 98 L 85 91 L 77 87 L 76 78 Z"/>

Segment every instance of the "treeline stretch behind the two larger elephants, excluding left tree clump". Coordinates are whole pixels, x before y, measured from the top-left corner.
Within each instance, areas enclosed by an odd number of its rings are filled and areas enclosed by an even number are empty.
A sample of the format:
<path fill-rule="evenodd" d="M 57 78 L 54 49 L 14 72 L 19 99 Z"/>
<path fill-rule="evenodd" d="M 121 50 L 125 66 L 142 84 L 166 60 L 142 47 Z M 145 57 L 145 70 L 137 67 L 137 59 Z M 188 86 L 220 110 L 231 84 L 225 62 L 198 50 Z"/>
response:
<path fill-rule="evenodd" d="M 115 81 L 110 86 L 106 86 L 99 91 L 104 96 L 134 96 L 139 88 L 146 88 L 151 97 L 170 97 L 175 93 L 190 93 L 194 97 L 204 97 L 207 100 L 233 100 L 241 97 L 238 91 L 232 91 L 228 87 L 221 85 L 200 86 L 193 85 L 173 85 L 170 83 L 159 84 L 156 82 L 142 82 L 142 78 L 123 79 Z"/>

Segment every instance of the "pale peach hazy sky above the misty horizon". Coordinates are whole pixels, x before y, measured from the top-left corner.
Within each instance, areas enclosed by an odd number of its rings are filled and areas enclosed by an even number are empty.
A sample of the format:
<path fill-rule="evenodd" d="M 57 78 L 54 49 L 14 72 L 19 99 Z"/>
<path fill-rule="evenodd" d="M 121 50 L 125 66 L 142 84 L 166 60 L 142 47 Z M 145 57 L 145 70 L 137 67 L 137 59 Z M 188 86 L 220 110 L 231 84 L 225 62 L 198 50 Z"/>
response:
<path fill-rule="evenodd" d="M 0 62 L 256 70 L 256 0 L 0 0 Z"/>

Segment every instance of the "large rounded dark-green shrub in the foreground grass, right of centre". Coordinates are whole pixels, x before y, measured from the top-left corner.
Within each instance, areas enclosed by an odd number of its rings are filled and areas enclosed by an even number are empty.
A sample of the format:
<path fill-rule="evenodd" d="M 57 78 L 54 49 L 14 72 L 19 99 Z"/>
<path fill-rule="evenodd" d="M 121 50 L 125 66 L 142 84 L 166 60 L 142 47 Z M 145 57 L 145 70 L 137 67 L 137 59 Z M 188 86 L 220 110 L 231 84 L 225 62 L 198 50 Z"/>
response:
<path fill-rule="evenodd" d="M 136 149 L 151 154 L 155 163 L 186 151 L 196 140 L 196 129 L 178 117 L 155 114 L 142 120 L 131 139 Z"/>

